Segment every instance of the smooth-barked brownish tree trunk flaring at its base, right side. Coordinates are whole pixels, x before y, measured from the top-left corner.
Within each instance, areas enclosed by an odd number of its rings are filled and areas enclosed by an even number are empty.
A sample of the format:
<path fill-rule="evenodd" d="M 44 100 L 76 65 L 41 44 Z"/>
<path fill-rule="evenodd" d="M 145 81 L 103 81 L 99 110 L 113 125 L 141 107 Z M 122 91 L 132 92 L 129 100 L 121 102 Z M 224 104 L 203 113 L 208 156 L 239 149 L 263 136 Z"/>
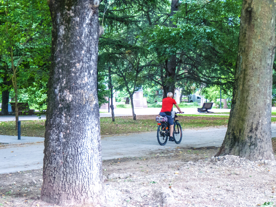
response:
<path fill-rule="evenodd" d="M 217 155 L 275 160 L 271 143 L 275 1 L 243 1 L 232 108 Z"/>

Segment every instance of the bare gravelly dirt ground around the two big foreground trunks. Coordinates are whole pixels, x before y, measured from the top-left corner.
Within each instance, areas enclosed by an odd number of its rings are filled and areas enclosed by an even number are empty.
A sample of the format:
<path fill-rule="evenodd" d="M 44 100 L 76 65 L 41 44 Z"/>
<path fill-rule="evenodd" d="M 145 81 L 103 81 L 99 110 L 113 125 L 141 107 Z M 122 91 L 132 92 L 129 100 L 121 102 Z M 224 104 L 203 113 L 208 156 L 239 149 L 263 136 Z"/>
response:
<path fill-rule="evenodd" d="M 275 147 L 275 139 L 273 144 Z M 217 151 L 215 147 L 176 146 L 144 157 L 105 160 L 104 206 L 276 204 L 275 162 L 253 162 L 232 155 L 215 158 Z M 0 206 L 58 207 L 39 200 L 42 182 L 41 169 L 0 174 Z"/>

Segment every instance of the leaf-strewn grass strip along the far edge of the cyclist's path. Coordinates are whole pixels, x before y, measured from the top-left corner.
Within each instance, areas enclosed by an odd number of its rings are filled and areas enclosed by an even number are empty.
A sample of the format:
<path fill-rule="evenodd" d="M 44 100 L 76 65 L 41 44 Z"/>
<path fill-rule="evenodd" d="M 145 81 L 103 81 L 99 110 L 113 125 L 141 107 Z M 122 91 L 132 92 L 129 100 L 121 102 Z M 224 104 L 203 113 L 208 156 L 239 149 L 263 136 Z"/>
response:
<path fill-rule="evenodd" d="M 229 116 L 204 116 L 204 115 L 184 115 L 179 117 L 179 122 L 183 129 L 222 126 L 228 124 Z M 276 121 L 272 117 L 271 121 Z M 156 131 L 157 124 L 155 119 L 137 119 L 132 120 L 128 117 L 115 117 L 115 122 L 112 122 L 111 117 L 100 118 L 101 135 L 125 134 Z M 21 121 L 21 136 L 44 137 L 45 120 Z M 17 136 L 15 130 L 15 121 L 0 122 L 0 134 Z"/>

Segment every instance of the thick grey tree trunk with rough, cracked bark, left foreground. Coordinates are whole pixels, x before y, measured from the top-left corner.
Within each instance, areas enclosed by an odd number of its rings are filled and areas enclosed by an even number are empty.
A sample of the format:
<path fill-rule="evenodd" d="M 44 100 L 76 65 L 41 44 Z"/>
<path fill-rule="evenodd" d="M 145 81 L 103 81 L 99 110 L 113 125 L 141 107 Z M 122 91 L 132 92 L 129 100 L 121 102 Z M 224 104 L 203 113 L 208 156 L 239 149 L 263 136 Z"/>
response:
<path fill-rule="evenodd" d="M 49 203 L 102 199 L 98 6 L 99 1 L 49 0 L 52 56 L 41 189 Z"/>

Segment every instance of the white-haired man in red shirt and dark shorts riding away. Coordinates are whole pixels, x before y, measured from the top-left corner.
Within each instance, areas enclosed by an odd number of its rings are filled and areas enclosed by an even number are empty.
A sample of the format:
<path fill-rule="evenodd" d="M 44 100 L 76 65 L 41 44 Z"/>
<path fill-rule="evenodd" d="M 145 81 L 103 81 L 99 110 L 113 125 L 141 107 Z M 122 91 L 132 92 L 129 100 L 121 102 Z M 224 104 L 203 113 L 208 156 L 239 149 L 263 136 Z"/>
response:
<path fill-rule="evenodd" d="M 177 105 L 176 101 L 172 98 L 173 94 L 171 92 L 167 93 L 167 98 L 164 98 L 162 100 L 162 108 L 161 108 L 161 112 L 159 113 L 160 116 L 166 116 L 168 118 L 168 123 L 170 125 L 170 138 L 169 141 L 174 141 L 174 138 L 172 137 L 172 133 L 173 133 L 173 120 L 172 120 L 172 106 L 175 105 L 176 108 L 178 109 L 178 111 L 180 113 L 183 113 L 179 106 Z"/>

